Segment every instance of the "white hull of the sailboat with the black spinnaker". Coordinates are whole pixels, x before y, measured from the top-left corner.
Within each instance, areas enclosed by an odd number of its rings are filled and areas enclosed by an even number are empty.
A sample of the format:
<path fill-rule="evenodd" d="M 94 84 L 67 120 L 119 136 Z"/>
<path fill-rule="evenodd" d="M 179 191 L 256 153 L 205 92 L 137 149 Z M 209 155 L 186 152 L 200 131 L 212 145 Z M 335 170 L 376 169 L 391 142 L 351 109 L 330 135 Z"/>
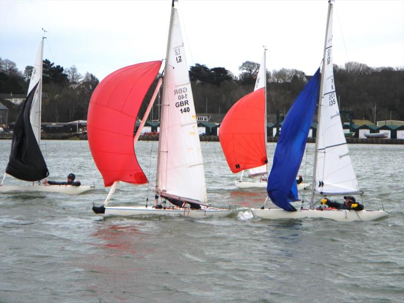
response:
<path fill-rule="evenodd" d="M 0 193 L 12 192 L 60 192 L 67 194 L 80 194 L 89 190 L 93 190 L 94 185 L 2 185 L 0 186 Z"/>

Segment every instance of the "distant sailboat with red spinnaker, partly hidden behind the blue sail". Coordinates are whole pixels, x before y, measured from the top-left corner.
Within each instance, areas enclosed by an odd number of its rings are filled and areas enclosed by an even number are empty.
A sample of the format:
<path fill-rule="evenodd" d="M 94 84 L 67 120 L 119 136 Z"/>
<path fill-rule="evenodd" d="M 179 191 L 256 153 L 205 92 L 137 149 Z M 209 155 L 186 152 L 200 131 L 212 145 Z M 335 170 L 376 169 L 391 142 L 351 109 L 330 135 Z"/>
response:
<path fill-rule="evenodd" d="M 254 91 L 238 100 L 224 117 L 219 140 L 232 173 L 241 171 L 238 188 L 267 187 L 267 69 L 266 51 L 258 70 Z M 250 181 L 243 180 L 248 173 Z M 253 181 L 252 179 L 258 179 Z M 299 183 L 298 190 L 309 183 Z"/>

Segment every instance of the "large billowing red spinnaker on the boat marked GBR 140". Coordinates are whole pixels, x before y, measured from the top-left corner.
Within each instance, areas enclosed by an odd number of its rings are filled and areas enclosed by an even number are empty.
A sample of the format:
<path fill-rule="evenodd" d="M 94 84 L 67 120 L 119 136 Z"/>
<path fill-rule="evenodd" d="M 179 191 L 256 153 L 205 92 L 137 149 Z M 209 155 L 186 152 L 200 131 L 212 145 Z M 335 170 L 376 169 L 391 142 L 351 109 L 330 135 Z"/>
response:
<path fill-rule="evenodd" d="M 121 68 L 109 74 L 92 93 L 87 116 L 88 143 L 105 186 L 118 180 L 147 183 L 136 159 L 133 133 L 140 105 L 161 63 L 151 61 Z"/>

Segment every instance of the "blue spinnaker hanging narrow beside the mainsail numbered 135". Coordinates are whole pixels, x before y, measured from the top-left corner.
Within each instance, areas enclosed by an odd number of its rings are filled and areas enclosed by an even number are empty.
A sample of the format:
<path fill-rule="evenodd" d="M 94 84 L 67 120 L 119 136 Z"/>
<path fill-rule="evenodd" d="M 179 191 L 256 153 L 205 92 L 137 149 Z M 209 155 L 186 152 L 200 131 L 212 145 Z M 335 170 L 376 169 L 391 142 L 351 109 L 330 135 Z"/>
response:
<path fill-rule="evenodd" d="M 267 191 L 272 202 L 285 211 L 296 211 L 289 201 L 298 199 L 296 175 L 305 153 L 307 136 L 316 111 L 319 91 L 320 69 L 313 75 L 290 107 L 276 145 Z"/>

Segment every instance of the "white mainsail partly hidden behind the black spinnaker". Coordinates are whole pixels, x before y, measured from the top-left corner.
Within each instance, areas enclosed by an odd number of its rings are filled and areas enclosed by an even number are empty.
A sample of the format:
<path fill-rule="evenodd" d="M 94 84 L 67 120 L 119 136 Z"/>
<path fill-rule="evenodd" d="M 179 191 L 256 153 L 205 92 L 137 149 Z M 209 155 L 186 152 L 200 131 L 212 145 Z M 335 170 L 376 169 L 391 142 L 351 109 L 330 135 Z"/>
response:
<path fill-rule="evenodd" d="M 41 43 L 39 45 L 38 54 L 36 55 L 35 64 L 32 69 L 31 80 L 29 81 L 28 93 L 35 87 L 36 91 L 34 94 L 34 98 L 32 99 L 31 112 L 29 115 L 29 119 L 31 122 L 32 130 L 34 131 L 34 135 L 38 145 L 41 139 L 41 99 L 42 99 L 42 57 L 43 57 L 43 37 L 41 39 Z"/>

